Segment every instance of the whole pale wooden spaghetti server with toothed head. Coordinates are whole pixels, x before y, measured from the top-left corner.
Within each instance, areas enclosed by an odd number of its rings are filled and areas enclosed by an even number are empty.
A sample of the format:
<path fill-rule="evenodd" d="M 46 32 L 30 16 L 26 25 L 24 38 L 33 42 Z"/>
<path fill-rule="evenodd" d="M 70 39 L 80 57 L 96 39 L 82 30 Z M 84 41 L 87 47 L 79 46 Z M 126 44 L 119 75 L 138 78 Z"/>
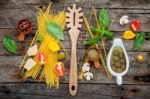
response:
<path fill-rule="evenodd" d="M 69 77 L 69 92 L 74 96 L 77 92 L 77 58 L 76 58 L 76 44 L 77 38 L 80 33 L 79 28 L 82 27 L 82 16 L 81 7 L 76 8 L 73 4 L 73 8 L 67 8 L 69 12 L 66 13 L 67 28 L 69 28 L 69 35 L 71 38 L 72 49 L 71 49 L 71 63 L 70 63 L 70 77 Z"/>

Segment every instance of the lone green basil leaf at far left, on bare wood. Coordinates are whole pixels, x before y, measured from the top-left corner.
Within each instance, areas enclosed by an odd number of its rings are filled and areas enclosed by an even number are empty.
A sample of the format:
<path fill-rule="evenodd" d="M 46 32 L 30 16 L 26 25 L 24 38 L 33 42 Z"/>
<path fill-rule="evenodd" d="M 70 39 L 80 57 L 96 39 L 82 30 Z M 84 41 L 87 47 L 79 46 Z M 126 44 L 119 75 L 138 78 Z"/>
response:
<path fill-rule="evenodd" d="M 17 44 L 12 38 L 5 36 L 3 38 L 3 45 L 9 52 L 16 53 Z"/>

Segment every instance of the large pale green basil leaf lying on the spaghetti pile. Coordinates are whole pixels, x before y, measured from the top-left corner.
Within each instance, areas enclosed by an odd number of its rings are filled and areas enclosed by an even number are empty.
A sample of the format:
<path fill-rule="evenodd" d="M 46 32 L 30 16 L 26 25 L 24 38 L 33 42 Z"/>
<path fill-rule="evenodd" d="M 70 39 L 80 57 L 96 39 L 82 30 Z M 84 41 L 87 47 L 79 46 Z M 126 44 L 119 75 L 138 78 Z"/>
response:
<path fill-rule="evenodd" d="M 60 39 L 60 40 L 64 40 L 64 34 L 63 34 L 63 30 L 60 27 L 60 25 L 54 23 L 54 22 L 48 22 L 47 25 L 47 31 L 49 32 L 49 34 L 51 34 L 53 37 Z"/>

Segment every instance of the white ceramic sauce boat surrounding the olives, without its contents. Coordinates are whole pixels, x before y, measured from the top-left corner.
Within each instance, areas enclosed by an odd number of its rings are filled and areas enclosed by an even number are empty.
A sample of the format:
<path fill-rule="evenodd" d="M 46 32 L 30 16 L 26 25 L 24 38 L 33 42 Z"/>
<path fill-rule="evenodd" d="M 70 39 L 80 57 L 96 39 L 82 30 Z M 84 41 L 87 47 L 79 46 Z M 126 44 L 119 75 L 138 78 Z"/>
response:
<path fill-rule="evenodd" d="M 117 73 L 115 71 L 112 70 L 111 68 L 111 65 L 110 65 L 110 60 L 111 60 L 111 56 L 112 56 L 112 52 L 113 52 L 113 49 L 114 47 L 121 47 L 123 49 L 123 52 L 124 52 L 124 55 L 125 55 L 125 59 L 126 59 L 126 69 L 121 72 L 121 73 Z M 122 76 L 124 76 L 128 69 L 129 69 L 129 58 L 128 58 L 128 55 L 127 55 L 127 52 L 124 48 L 124 45 L 123 45 L 123 42 L 121 39 L 114 39 L 114 42 L 113 42 L 113 45 L 108 53 L 108 57 L 107 57 L 107 68 L 109 70 L 109 72 L 116 77 L 116 81 L 117 81 L 117 84 L 118 85 L 122 85 Z"/>

